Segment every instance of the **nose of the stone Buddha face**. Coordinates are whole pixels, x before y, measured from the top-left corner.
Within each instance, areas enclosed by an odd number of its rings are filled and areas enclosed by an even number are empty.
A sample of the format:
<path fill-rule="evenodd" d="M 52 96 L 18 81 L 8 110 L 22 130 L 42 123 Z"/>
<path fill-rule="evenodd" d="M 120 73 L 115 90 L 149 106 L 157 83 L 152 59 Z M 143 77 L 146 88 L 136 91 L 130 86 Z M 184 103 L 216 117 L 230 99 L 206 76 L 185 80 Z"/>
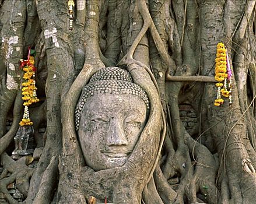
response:
<path fill-rule="evenodd" d="M 107 133 L 108 146 L 127 146 L 128 141 L 124 133 L 124 127 L 117 119 L 111 118 Z"/>

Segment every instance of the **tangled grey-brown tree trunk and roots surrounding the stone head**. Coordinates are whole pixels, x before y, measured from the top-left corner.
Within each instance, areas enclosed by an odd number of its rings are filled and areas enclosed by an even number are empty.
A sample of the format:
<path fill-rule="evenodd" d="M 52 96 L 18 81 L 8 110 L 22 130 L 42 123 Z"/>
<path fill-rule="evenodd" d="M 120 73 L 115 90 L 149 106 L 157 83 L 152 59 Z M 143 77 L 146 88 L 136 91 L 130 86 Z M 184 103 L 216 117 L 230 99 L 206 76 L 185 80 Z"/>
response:
<path fill-rule="evenodd" d="M 15 183 L 24 203 L 86 203 L 88 196 L 97 203 L 105 196 L 133 204 L 254 203 L 256 1 L 74 3 L 69 30 L 66 1 L 0 1 L 0 191 L 6 201 L 17 202 L 7 187 Z M 216 107 L 220 42 L 232 67 L 232 104 Z M 36 50 L 40 98 L 31 119 L 36 146 L 43 146 L 32 165 L 26 156 L 10 158 L 24 109 L 19 60 L 29 46 Z M 107 66 L 131 73 L 149 96 L 150 115 L 127 163 L 101 172 L 85 166 L 74 111 L 82 87 Z M 193 131 L 183 105 L 195 112 Z"/>

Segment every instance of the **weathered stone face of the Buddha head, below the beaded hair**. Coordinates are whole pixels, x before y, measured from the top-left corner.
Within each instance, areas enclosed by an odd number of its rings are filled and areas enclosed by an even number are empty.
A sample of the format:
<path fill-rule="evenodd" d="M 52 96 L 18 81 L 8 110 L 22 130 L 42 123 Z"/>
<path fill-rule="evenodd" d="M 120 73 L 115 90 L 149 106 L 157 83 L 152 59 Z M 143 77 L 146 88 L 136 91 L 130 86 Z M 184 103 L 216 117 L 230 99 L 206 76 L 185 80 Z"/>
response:
<path fill-rule="evenodd" d="M 82 110 L 78 137 L 87 166 L 95 171 L 127 161 L 146 122 L 146 104 L 132 94 L 95 94 Z"/>

